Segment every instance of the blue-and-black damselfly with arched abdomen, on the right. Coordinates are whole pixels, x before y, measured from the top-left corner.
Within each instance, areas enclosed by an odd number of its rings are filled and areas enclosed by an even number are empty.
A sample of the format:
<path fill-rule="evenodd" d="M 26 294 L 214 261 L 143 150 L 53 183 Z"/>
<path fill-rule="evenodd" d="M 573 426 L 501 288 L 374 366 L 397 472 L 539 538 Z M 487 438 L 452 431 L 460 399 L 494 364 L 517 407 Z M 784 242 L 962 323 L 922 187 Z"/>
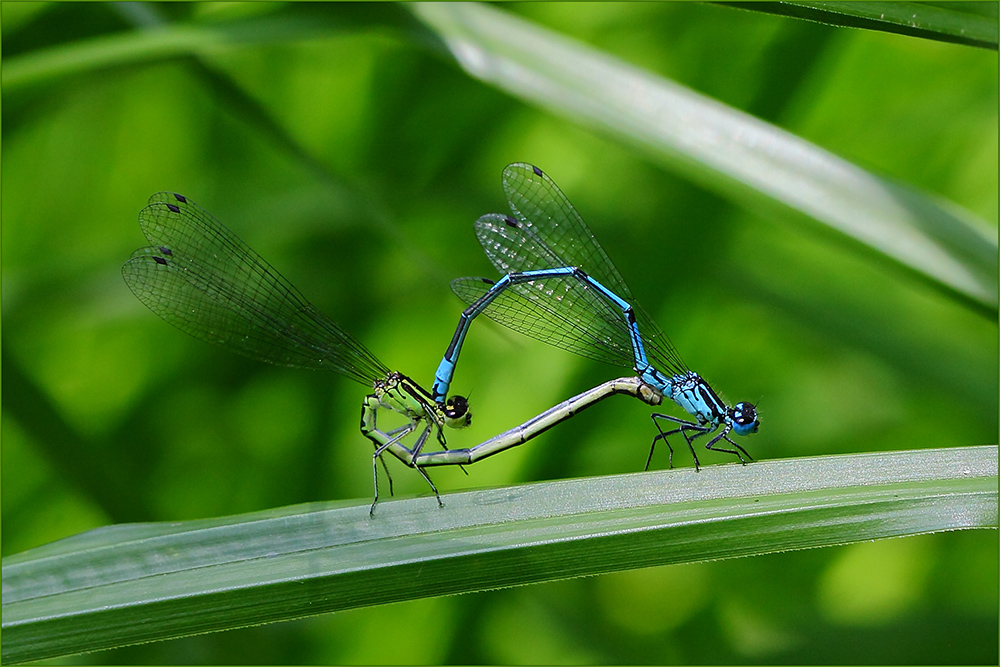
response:
<path fill-rule="evenodd" d="M 445 400 L 465 336 L 472 320 L 482 313 L 570 352 L 630 366 L 649 390 L 667 396 L 692 415 L 690 421 L 653 413 L 658 434 L 650 447 L 647 469 L 660 440 L 670 450 L 673 465 L 673 448 L 667 438 L 676 433 L 684 436 L 697 468 L 693 442 L 720 427 L 706 448 L 734 454 L 744 463 L 744 455 L 752 460 L 729 433 L 756 433 L 756 406 L 746 401 L 727 405 L 687 367 L 670 339 L 635 304 L 618 269 L 552 179 L 538 167 L 517 163 L 504 169 L 503 187 L 513 216 L 484 215 L 476 221 L 475 230 L 486 256 L 504 276 L 496 282 L 486 278 L 452 281 L 454 292 L 471 305 L 459 318 L 438 366 L 434 400 Z M 660 420 L 676 428 L 665 431 Z M 735 449 L 716 447 L 720 440 Z"/>

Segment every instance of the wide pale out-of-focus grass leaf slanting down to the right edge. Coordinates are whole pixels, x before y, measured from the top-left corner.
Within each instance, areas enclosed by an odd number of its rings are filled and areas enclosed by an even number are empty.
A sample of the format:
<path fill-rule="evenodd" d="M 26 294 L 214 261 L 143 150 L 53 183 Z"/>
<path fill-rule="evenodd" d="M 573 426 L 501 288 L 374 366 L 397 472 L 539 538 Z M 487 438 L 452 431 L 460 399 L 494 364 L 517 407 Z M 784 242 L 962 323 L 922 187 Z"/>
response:
<path fill-rule="evenodd" d="M 407 5 L 470 75 L 608 132 L 742 205 L 783 204 L 995 317 L 991 225 L 673 81 L 484 5 Z"/>

